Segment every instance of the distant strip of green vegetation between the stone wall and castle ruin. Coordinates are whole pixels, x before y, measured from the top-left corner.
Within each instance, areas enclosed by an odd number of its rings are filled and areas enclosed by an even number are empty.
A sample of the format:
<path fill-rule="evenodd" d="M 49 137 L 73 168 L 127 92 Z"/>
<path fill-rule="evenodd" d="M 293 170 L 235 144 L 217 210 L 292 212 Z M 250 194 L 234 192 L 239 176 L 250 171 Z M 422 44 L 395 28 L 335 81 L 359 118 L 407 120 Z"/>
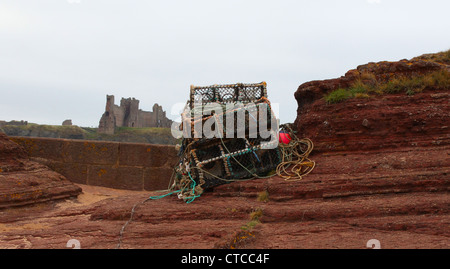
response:
<path fill-rule="evenodd" d="M 8 136 L 33 136 L 66 139 L 104 140 L 118 142 L 136 142 L 150 144 L 178 144 L 170 128 L 128 128 L 119 127 L 114 134 L 97 133 L 97 128 L 61 125 L 6 125 L 0 128 Z"/>

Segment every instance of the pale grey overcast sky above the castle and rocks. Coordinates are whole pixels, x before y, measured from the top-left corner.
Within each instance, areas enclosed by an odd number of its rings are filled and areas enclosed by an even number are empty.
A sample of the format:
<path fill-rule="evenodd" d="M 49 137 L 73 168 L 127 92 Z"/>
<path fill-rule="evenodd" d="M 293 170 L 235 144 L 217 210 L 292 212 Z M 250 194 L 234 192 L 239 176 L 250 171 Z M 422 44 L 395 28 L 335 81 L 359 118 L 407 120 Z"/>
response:
<path fill-rule="evenodd" d="M 449 10 L 448 0 L 0 0 L 0 120 L 97 127 L 107 94 L 176 119 L 191 84 L 266 81 L 292 122 L 304 82 L 450 49 Z"/>

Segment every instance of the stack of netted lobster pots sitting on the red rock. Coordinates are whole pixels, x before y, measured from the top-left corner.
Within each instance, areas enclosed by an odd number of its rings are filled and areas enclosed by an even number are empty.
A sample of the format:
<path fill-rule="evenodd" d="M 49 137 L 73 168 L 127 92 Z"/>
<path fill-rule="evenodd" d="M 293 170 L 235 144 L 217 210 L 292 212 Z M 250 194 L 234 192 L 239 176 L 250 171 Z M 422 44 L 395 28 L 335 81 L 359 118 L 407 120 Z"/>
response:
<path fill-rule="evenodd" d="M 172 189 L 188 202 L 214 186 L 275 174 L 278 120 L 266 83 L 191 86 Z"/>

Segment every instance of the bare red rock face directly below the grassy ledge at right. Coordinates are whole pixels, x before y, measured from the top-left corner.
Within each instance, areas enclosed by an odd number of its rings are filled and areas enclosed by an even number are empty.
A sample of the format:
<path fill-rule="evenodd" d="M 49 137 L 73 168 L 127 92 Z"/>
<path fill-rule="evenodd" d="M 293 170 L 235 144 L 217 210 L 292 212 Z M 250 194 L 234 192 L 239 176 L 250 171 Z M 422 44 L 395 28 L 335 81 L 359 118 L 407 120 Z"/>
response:
<path fill-rule="evenodd" d="M 449 100 L 449 91 L 386 94 L 331 105 L 317 100 L 301 110 L 296 126 L 299 136 L 314 141 L 315 152 L 449 145 Z"/>

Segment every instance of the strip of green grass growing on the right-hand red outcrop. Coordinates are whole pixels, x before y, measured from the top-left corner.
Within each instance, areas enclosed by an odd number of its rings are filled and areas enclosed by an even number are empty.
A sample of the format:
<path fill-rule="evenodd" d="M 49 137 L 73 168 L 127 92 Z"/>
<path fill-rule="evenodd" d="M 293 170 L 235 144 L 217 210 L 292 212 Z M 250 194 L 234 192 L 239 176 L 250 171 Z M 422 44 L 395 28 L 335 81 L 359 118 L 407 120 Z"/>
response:
<path fill-rule="evenodd" d="M 449 53 L 447 53 L 449 54 Z M 426 88 L 450 88 L 450 74 L 446 70 L 439 70 L 421 76 L 398 77 L 387 82 L 377 82 L 373 74 L 361 74 L 349 88 L 339 88 L 327 94 L 328 104 L 339 103 L 349 98 L 370 98 L 371 95 L 381 95 L 404 92 L 414 95 Z"/>

